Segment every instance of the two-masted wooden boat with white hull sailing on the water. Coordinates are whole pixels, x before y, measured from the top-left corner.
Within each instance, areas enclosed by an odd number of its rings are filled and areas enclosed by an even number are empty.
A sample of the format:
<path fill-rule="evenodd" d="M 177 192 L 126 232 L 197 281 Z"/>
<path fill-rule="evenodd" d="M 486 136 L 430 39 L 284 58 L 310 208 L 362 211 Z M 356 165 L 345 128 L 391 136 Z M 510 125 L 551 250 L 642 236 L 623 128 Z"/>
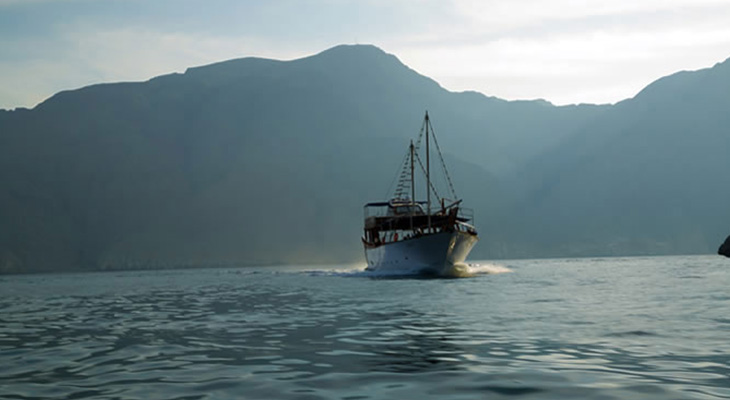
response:
<path fill-rule="evenodd" d="M 423 140 L 425 139 L 425 140 Z M 425 166 L 419 156 L 425 142 Z M 452 199 L 440 197 L 431 177 L 431 141 Z M 425 200 L 416 200 L 416 167 L 425 175 Z M 473 212 L 461 206 L 443 161 L 428 112 L 416 144 L 411 141 L 393 197 L 367 203 L 362 242 L 368 271 L 449 275 L 479 240 Z"/>

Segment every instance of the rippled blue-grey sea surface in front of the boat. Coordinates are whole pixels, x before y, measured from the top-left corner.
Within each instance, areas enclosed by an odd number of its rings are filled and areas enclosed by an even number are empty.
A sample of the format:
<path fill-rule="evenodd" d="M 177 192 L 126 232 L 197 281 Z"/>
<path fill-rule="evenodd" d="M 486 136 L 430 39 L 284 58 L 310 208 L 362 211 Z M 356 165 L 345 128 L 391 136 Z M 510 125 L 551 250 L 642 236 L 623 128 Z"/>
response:
<path fill-rule="evenodd" d="M 730 398 L 730 260 L 0 277 L 0 398 Z"/>

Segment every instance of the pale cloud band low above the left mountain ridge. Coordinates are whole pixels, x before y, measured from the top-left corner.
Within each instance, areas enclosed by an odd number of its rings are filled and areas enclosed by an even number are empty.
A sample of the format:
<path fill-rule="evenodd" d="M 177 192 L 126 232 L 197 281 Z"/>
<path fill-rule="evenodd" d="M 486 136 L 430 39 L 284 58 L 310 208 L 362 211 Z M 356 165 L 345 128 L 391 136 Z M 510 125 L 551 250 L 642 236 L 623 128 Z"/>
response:
<path fill-rule="evenodd" d="M 145 81 L 222 60 L 293 59 L 322 49 L 282 46 L 266 38 L 208 36 L 139 28 L 67 27 L 53 41 L 0 39 L 0 108 L 33 107 L 54 93 L 95 83 Z M 311 49 L 309 49 L 311 47 Z M 309 52 L 308 52 L 309 51 Z"/>

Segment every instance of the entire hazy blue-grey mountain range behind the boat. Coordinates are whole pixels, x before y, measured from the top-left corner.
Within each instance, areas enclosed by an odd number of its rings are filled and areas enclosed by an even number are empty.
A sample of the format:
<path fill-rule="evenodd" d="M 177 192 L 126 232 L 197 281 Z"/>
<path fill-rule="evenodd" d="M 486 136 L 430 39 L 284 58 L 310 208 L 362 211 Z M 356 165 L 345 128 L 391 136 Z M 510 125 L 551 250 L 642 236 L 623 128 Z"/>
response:
<path fill-rule="evenodd" d="M 452 93 L 372 46 L 61 92 L 0 110 L 0 268 L 361 260 L 426 109 L 477 258 L 714 249 L 725 64 L 616 106 Z"/>

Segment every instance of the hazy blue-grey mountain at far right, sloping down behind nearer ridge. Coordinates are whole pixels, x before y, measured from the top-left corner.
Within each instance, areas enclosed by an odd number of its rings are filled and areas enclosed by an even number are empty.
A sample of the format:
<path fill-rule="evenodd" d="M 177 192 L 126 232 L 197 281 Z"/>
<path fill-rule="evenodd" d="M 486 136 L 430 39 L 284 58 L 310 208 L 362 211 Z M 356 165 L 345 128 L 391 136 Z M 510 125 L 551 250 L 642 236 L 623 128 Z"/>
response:
<path fill-rule="evenodd" d="M 730 61 L 659 79 L 526 166 L 514 211 L 533 228 L 512 245 L 715 252 L 730 230 L 729 151 Z"/>

